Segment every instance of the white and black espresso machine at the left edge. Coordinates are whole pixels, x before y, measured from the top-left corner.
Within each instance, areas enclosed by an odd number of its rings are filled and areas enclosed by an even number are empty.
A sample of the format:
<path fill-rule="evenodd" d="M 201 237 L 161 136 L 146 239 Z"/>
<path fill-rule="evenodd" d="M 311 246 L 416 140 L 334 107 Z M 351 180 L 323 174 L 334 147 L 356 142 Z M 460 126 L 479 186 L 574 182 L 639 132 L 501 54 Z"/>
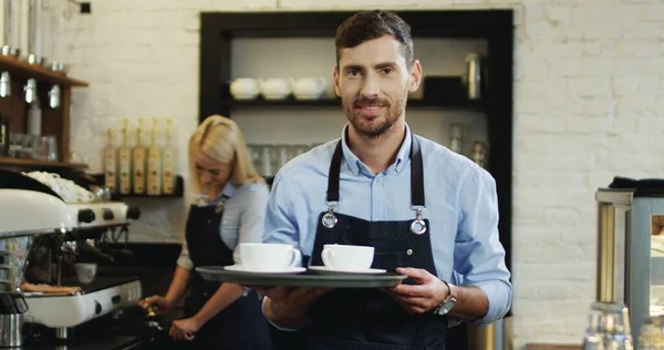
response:
<path fill-rule="evenodd" d="M 95 276 L 97 261 L 131 254 L 106 244 L 126 243 L 131 220 L 139 217 L 108 191 L 55 174 L 0 169 L 0 348 L 68 349 L 90 336 L 85 326 L 136 307 L 138 278 Z M 104 348 L 86 340 L 87 347 Z"/>

